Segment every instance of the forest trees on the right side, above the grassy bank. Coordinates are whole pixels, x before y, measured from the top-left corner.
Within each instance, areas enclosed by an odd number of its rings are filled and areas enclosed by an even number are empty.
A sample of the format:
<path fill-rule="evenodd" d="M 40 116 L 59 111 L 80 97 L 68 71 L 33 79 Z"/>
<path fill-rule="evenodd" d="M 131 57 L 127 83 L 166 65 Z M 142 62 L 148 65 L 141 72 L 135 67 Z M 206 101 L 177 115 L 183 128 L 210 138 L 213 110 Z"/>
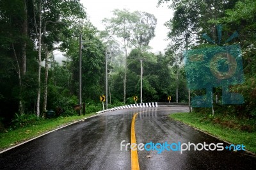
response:
<path fill-rule="evenodd" d="M 244 104 L 214 104 L 214 107 L 216 111 L 221 113 L 236 114 L 246 118 L 255 117 L 256 1 L 159 0 L 158 2 L 159 6 L 166 4 L 174 10 L 173 18 L 166 22 L 166 26 L 170 29 L 168 38 L 171 40 L 166 49 L 166 56 L 175 54 L 176 61 L 182 61 L 182 52 L 186 49 L 240 45 L 244 83 L 230 86 L 229 92 L 243 95 Z M 218 42 L 218 35 L 221 35 L 218 33 L 217 26 L 222 27 L 220 44 L 212 44 L 211 40 Z M 238 35 L 234 33 L 238 33 Z M 233 39 L 228 41 L 230 36 Z M 197 93 L 202 93 L 202 91 L 191 91 L 191 97 L 193 98 Z M 216 95 L 221 97 L 221 87 L 214 88 L 213 93 L 214 98 L 212 100 L 216 100 Z"/>

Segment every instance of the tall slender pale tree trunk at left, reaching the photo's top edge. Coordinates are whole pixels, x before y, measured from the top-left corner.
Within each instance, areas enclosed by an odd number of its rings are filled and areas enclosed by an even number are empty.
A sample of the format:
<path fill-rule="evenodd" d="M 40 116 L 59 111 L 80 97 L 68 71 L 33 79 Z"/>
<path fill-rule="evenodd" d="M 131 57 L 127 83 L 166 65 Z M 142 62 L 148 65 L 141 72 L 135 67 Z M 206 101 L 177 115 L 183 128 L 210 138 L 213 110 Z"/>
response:
<path fill-rule="evenodd" d="M 36 116 L 40 116 L 40 92 L 41 92 L 41 51 L 42 51 L 42 6 L 41 1 L 39 3 L 39 27 L 38 27 L 38 91 L 36 100 Z"/>

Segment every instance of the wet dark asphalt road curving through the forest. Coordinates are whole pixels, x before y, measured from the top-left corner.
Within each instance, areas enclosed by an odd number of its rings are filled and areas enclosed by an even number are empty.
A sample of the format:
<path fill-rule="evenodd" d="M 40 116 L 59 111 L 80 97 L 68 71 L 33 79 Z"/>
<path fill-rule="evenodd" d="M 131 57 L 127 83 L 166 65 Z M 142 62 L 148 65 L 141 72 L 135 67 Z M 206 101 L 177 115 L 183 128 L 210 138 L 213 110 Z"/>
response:
<path fill-rule="evenodd" d="M 0 154 L 0 169 L 131 169 L 131 120 L 136 112 L 137 143 L 223 143 L 177 121 L 170 112 L 187 107 L 147 107 L 107 112 L 79 121 Z M 245 151 L 138 151 L 140 169 L 255 169 Z"/>

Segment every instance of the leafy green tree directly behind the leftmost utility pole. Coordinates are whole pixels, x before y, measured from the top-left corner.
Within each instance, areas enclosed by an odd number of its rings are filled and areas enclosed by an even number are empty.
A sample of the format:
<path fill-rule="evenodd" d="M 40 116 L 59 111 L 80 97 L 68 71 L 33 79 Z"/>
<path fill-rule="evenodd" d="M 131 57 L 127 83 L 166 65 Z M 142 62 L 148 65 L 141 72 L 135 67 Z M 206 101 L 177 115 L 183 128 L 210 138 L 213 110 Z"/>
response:
<path fill-rule="evenodd" d="M 83 101 L 99 100 L 99 95 L 104 91 L 104 56 L 105 48 L 99 38 L 96 36 L 97 29 L 91 24 L 84 27 L 82 35 L 82 84 L 83 84 Z M 70 39 L 67 50 L 67 57 L 70 59 L 70 71 L 72 72 L 72 82 L 70 89 L 72 93 L 77 94 L 79 82 L 79 43 L 77 40 Z"/>

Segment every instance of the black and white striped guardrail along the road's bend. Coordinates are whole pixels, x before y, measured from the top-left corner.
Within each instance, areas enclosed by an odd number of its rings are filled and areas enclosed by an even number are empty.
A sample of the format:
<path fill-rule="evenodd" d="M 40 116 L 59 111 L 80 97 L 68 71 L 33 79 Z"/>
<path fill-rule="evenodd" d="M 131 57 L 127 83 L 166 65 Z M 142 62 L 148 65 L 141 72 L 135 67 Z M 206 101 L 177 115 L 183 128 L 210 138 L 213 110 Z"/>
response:
<path fill-rule="evenodd" d="M 158 107 L 158 104 L 157 104 L 157 102 L 152 102 L 152 103 L 143 103 L 143 104 L 122 105 L 122 106 L 114 107 L 114 108 L 107 109 L 107 110 L 104 110 L 104 111 L 96 112 L 96 114 L 100 114 L 102 112 L 108 112 L 108 111 L 116 111 L 116 110 L 121 110 L 121 109 L 132 109 L 132 108 L 141 108 L 141 107 Z"/>

